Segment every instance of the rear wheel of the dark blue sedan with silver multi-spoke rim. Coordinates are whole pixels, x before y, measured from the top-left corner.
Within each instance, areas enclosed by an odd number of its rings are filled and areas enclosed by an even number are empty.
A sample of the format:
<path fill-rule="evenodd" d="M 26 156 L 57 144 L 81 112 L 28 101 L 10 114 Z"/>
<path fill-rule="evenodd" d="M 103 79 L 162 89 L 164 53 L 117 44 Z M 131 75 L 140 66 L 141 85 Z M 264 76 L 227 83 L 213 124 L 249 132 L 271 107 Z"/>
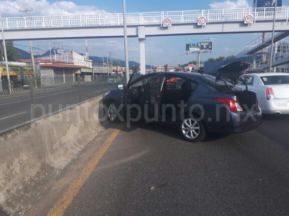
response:
<path fill-rule="evenodd" d="M 182 136 L 187 141 L 202 141 L 206 136 L 204 122 L 195 117 L 186 116 L 184 120 L 181 120 L 179 127 Z"/>

